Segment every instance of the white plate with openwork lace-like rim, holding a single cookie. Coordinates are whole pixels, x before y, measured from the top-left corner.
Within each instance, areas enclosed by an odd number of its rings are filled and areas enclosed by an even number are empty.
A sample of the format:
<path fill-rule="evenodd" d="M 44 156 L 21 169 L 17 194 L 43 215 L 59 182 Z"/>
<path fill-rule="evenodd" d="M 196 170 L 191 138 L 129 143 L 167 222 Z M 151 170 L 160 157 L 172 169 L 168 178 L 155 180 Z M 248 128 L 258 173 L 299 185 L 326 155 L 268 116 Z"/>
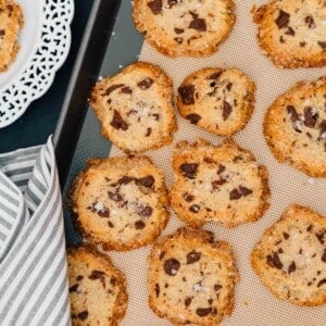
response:
<path fill-rule="evenodd" d="M 0 73 L 0 128 L 16 121 L 51 86 L 71 46 L 74 0 L 16 0 L 24 12 L 20 51 Z"/>

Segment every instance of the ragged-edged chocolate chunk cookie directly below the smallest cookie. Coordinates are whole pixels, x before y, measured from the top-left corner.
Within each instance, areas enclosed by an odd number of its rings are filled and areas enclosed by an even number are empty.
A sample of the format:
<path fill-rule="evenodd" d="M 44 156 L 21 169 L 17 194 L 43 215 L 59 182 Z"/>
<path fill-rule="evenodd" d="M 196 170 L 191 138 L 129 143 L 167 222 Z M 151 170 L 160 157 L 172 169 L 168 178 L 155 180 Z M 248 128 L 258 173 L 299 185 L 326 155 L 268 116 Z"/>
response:
<path fill-rule="evenodd" d="M 193 227 L 215 221 L 236 227 L 259 220 L 269 203 L 268 173 L 231 139 L 213 146 L 179 142 L 173 152 L 171 204 Z"/>

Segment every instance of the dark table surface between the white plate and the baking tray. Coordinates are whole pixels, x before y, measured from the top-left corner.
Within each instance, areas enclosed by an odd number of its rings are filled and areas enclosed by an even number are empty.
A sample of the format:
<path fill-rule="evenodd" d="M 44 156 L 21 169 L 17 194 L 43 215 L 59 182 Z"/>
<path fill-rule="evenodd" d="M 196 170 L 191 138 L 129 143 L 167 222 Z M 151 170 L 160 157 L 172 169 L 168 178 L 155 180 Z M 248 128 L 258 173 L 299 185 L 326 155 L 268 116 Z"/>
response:
<path fill-rule="evenodd" d="M 93 0 L 78 0 L 75 4 L 72 46 L 66 62 L 58 71 L 48 92 L 33 102 L 21 118 L 0 129 L 0 153 L 43 143 L 53 134 L 92 3 Z"/>

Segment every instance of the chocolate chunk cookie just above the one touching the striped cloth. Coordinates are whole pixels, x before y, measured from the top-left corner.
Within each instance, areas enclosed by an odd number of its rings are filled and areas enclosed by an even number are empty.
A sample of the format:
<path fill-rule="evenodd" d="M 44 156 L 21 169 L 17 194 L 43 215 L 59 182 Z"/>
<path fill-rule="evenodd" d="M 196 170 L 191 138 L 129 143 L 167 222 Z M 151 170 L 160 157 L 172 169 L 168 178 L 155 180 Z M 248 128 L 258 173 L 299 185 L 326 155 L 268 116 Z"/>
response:
<path fill-rule="evenodd" d="M 89 160 L 68 197 L 78 229 L 104 250 L 151 243 L 168 221 L 163 174 L 145 156 Z"/>

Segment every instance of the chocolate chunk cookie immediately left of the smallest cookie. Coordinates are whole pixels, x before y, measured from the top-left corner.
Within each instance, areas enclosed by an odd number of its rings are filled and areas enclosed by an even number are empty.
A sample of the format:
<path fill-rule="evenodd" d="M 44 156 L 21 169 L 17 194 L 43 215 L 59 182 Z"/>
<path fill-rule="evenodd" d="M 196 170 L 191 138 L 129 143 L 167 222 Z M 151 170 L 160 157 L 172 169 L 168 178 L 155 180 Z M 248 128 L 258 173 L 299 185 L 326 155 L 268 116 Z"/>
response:
<path fill-rule="evenodd" d="M 156 65 L 138 62 L 98 82 L 90 105 L 102 135 L 123 151 L 158 149 L 173 140 L 172 80 Z"/>

